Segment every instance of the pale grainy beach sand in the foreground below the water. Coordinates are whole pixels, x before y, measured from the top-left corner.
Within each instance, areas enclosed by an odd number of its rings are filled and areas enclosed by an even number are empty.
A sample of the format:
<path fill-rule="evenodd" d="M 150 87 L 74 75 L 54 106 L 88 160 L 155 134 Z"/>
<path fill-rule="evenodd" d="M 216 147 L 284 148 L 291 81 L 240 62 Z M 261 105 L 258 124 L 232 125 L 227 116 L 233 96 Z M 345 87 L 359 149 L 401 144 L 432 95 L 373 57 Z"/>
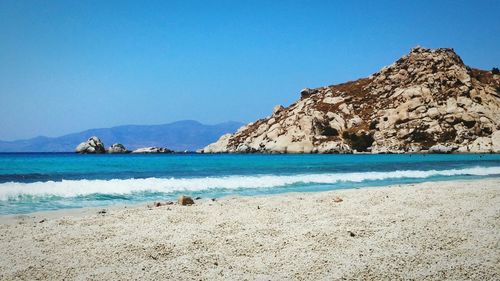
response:
<path fill-rule="evenodd" d="M 0 221 L 1 280 L 500 280 L 500 178 Z"/>

